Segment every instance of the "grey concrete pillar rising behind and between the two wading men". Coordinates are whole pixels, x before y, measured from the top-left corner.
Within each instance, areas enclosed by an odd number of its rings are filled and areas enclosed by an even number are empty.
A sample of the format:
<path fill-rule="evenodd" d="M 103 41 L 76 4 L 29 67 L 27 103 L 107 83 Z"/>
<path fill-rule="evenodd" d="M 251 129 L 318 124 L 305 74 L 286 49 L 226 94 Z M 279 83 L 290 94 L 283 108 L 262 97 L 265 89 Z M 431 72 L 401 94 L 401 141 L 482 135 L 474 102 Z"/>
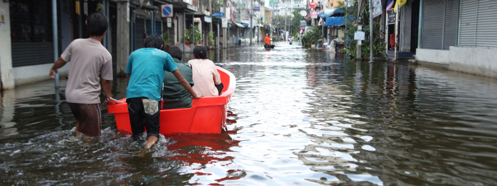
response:
<path fill-rule="evenodd" d="M 129 57 L 129 2 L 117 2 L 117 57 L 116 74 L 126 75 Z"/>

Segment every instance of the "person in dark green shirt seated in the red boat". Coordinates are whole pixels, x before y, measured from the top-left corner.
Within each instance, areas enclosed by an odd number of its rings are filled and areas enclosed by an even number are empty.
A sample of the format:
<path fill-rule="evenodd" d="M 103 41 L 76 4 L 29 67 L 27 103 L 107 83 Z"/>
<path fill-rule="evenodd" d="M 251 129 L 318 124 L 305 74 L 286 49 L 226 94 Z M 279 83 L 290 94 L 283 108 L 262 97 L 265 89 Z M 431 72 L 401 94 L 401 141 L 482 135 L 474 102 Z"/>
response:
<path fill-rule="evenodd" d="M 166 49 L 166 53 L 172 57 L 172 60 L 178 67 L 181 75 L 190 83 L 193 87 L 193 78 L 191 65 L 185 62 L 181 62 L 183 58 L 183 52 L 176 47 L 171 46 Z M 191 95 L 188 91 L 179 84 L 178 80 L 174 77 L 171 72 L 166 71 L 164 76 L 164 92 L 162 94 L 164 99 L 163 109 L 181 109 L 191 107 Z"/>

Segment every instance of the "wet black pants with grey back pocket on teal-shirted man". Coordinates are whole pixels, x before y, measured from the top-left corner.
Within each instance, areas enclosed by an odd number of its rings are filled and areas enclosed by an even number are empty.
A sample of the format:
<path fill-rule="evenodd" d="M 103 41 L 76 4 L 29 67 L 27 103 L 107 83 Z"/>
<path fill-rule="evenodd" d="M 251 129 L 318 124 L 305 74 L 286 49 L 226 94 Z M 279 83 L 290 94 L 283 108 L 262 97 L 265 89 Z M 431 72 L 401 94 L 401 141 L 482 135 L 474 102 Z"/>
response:
<path fill-rule="evenodd" d="M 146 97 L 127 99 L 133 139 L 137 140 L 147 128 L 147 138 L 159 137 L 161 105 Z M 145 104 L 144 104 L 145 103 Z M 145 127 L 144 127 L 145 125 Z"/>

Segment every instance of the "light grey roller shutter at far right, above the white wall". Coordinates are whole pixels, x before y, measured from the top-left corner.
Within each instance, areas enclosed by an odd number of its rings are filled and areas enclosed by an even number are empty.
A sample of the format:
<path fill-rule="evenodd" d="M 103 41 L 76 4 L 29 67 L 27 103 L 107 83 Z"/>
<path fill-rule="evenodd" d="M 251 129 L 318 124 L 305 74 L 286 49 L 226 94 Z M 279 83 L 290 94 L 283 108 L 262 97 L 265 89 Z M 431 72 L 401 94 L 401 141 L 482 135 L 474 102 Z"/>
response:
<path fill-rule="evenodd" d="M 463 0 L 459 46 L 497 48 L 497 0 Z"/>

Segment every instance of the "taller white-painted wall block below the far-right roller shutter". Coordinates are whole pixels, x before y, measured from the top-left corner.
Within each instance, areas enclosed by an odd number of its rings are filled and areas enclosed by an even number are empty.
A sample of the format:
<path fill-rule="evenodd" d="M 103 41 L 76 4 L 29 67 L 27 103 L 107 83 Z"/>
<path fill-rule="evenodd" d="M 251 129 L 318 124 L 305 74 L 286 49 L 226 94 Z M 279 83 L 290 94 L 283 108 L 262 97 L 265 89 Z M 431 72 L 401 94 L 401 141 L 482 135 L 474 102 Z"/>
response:
<path fill-rule="evenodd" d="M 497 49 L 450 47 L 449 69 L 497 78 Z"/>

